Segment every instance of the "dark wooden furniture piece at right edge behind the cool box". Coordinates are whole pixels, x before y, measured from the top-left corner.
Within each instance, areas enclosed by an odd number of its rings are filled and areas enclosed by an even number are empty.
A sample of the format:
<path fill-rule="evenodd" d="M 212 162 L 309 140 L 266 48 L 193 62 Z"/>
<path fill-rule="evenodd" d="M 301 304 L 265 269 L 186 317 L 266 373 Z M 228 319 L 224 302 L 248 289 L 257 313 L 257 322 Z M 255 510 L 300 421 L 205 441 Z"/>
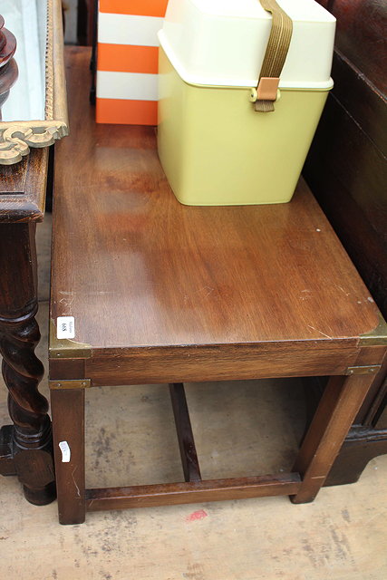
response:
<path fill-rule="evenodd" d="M 304 176 L 387 318 L 387 4 L 319 0 L 337 18 L 328 98 Z M 331 473 L 356 480 L 387 453 L 386 366 Z"/>

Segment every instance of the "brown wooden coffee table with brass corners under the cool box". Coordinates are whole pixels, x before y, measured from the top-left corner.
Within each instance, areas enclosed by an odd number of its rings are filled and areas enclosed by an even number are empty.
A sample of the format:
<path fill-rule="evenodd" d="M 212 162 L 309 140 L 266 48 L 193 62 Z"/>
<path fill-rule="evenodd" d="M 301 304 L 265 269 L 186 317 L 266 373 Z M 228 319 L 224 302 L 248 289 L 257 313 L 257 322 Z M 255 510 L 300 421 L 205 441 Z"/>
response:
<path fill-rule="evenodd" d="M 50 386 L 60 521 L 80 523 L 87 509 L 311 501 L 386 352 L 372 297 L 303 180 L 289 204 L 180 205 L 154 129 L 93 121 L 89 57 L 68 52 L 73 131 L 58 145 L 55 171 Z M 72 317 L 74 335 L 58 338 L 62 317 Z M 292 472 L 201 480 L 182 383 L 314 375 L 331 380 Z M 170 383 L 186 481 L 85 489 L 85 389 L 160 382 Z"/>

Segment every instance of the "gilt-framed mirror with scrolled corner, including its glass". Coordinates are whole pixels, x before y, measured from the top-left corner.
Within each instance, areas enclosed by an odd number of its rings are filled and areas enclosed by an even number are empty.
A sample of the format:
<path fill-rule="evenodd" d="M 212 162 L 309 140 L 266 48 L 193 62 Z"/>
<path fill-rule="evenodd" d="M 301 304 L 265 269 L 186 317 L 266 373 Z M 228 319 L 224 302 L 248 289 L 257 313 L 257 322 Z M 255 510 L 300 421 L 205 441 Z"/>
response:
<path fill-rule="evenodd" d="M 0 5 L 0 165 L 68 134 L 61 0 Z"/>

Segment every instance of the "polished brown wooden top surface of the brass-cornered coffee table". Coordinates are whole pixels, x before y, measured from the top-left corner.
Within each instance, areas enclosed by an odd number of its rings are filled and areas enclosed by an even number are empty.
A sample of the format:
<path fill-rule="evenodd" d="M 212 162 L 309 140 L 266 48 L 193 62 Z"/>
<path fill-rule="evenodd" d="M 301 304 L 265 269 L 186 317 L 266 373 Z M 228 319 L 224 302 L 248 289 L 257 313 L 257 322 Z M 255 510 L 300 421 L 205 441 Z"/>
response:
<path fill-rule="evenodd" d="M 53 317 L 75 317 L 76 342 L 356 340 L 377 326 L 372 297 L 303 180 L 289 204 L 181 205 L 153 128 L 95 124 L 77 66 L 87 55 L 74 54 L 71 75 L 81 142 L 76 156 L 71 138 L 58 144 L 55 181 Z"/>

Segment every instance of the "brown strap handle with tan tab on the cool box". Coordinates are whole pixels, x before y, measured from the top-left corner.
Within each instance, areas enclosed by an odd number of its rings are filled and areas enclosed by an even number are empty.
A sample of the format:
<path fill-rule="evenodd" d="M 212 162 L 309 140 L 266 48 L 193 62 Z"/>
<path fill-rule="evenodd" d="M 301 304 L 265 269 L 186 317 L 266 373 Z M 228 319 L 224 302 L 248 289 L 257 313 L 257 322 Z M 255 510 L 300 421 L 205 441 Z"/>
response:
<path fill-rule="evenodd" d="M 252 89 L 251 100 L 256 111 L 271 112 L 274 111 L 279 77 L 292 39 L 293 22 L 277 5 L 276 0 L 259 0 L 259 2 L 273 18 L 258 84 L 256 89 Z"/>

